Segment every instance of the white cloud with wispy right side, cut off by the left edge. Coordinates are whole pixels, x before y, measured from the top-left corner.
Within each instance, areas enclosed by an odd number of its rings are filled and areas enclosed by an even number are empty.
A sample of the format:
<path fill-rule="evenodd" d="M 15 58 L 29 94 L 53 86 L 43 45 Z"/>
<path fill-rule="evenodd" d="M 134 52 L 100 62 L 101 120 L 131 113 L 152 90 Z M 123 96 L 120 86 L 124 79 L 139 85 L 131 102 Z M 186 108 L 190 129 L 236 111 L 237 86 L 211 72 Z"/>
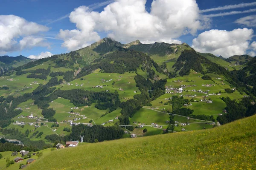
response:
<path fill-rule="evenodd" d="M 35 39 L 32 35 L 42 31 L 48 31 L 46 26 L 28 22 L 24 18 L 15 15 L 0 15 L 0 53 L 17 51 L 36 45 L 47 46 L 43 39 Z M 19 42 L 18 38 L 22 38 Z M 32 42 L 29 42 L 31 41 Z"/>

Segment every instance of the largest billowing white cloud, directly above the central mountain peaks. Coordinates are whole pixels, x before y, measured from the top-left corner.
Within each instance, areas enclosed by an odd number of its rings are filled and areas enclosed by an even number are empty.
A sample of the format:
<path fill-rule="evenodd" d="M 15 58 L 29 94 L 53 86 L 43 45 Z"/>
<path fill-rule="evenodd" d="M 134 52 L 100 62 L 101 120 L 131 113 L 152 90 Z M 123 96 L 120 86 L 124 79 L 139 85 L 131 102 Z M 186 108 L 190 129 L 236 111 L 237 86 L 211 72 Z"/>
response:
<path fill-rule="evenodd" d="M 121 42 L 139 39 L 180 43 L 173 39 L 209 26 L 209 19 L 201 16 L 195 0 L 153 0 L 150 12 L 145 3 L 146 0 L 116 0 L 100 13 L 80 6 L 69 16 L 77 29 L 61 29 L 58 38 L 64 40 L 62 46 L 68 50 L 100 40 L 102 32 Z"/>

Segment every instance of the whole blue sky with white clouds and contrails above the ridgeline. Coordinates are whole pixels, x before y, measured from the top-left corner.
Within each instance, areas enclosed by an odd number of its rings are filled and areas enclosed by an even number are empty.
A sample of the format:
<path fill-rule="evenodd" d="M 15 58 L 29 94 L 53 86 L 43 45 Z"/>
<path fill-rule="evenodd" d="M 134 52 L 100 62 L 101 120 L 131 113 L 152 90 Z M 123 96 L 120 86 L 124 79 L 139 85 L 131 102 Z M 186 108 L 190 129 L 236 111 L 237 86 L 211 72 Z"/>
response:
<path fill-rule="evenodd" d="M 0 56 L 40 59 L 110 37 L 254 57 L 255 31 L 255 0 L 0 0 Z"/>

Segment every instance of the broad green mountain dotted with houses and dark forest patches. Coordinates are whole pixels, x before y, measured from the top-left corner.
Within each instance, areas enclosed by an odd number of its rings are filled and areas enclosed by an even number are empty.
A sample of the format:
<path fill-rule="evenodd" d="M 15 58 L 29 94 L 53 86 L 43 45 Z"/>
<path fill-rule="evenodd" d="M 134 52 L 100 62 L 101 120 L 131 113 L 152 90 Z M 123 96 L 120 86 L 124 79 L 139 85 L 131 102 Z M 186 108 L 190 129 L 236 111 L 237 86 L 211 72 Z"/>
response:
<path fill-rule="evenodd" d="M 20 140 L 26 150 L 40 150 L 80 135 L 84 142 L 104 143 L 166 129 L 211 129 L 256 113 L 255 82 L 242 79 L 254 78 L 254 58 L 240 70 L 226 64 L 186 43 L 104 38 L 1 76 L 0 133 Z"/>

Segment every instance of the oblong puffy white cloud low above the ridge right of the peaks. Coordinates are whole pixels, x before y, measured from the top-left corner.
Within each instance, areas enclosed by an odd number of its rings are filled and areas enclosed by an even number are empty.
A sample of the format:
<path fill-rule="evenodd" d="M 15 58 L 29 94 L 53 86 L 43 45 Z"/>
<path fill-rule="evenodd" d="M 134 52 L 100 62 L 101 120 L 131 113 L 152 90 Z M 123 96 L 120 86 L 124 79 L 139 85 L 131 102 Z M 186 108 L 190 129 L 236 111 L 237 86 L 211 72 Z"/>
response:
<path fill-rule="evenodd" d="M 253 37 L 253 29 L 209 30 L 193 40 L 192 48 L 202 53 L 212 53 L 225 58 L 243 55 L 250 48 L 249 41 Z"/>

